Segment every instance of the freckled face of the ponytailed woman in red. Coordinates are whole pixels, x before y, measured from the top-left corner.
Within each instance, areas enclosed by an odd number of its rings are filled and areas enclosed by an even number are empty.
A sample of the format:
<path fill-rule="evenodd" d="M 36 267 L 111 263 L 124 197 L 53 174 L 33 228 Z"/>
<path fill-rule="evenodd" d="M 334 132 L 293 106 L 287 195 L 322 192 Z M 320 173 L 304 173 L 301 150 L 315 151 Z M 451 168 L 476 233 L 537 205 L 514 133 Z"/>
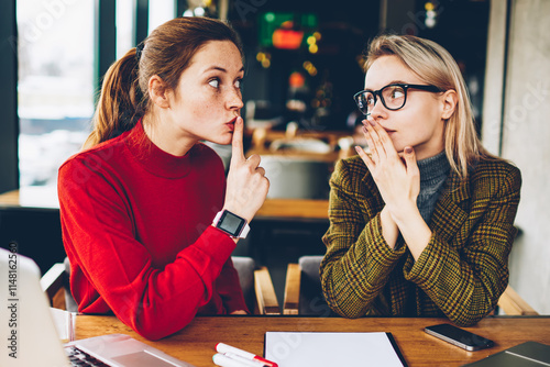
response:
<path fill-rule="evenodd" d="M 232 42 L 206 43 L 169 96 L 169 116 L 179 133 L 195 141 L 230 144 L 243 107 L 243 76 L 241 54 Z"/>

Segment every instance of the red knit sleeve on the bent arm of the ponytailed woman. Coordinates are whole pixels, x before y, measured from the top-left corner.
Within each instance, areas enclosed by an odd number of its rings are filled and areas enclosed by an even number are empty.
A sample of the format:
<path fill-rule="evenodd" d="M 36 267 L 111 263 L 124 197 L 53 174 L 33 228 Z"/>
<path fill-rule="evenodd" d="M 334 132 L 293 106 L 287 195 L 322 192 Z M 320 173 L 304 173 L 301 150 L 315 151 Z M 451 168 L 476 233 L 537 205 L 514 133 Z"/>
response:
<path fill-rule="evenodd" d="M 58 197 L 67 255 L 72 266 L 79 265 L 70 281 L 80 312 L 112 311 L 144 337 L 158 340 L 185 327 L 216 294 L 213 285 L 235 248 L 218 229 L 206 227 L 158 268 L 136 237 L 131 199 L 116 178 L 72 159 L 59 169 Z"/>

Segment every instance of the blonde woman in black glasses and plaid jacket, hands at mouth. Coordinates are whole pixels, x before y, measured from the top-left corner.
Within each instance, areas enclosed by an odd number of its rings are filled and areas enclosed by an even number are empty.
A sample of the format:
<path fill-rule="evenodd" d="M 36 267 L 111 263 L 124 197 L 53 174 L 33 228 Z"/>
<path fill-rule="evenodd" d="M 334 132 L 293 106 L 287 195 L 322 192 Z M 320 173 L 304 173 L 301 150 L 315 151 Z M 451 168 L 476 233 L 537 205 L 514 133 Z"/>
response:
<path fill-rule="evenodd" d="M 521 177 L 480 144 L 457 63 L 440 45 L 382 35 L 365 62 L 369 154 L 338 163 L 321 263 L 346 318 L 447 316 L 471 325 L 508 282 Z"/>

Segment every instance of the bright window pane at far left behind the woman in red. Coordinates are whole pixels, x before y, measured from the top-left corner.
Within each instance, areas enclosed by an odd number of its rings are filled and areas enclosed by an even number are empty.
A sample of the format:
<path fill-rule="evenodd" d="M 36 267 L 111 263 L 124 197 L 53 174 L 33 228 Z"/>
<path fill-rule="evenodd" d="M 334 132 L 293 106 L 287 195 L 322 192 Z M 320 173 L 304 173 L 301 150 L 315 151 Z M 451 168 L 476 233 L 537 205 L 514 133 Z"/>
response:
<path fill-rule="evenodd" d="M 94 113 L 94 0 L 20 0 L 20 187 L 55 186 Z"/>

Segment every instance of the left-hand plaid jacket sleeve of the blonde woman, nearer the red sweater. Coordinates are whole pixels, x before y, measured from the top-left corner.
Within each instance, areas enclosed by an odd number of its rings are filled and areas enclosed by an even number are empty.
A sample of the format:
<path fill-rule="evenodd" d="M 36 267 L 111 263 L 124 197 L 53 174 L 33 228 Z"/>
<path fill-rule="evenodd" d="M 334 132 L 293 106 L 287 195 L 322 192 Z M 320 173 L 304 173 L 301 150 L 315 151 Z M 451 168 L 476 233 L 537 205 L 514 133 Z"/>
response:
<path fill-rule="evenodd" d="M 354 171 L 355 170 L 355 171 Z M 405 254 L 384 240 L 380 220 L 383 202 L 366 194 L 364 173 L 345 160 L 337 164 L 330 186 L 330 226 L 323 236 L 321 285 L 330 308 L 346 318 L 388 314 L 375 299 Z"/>

